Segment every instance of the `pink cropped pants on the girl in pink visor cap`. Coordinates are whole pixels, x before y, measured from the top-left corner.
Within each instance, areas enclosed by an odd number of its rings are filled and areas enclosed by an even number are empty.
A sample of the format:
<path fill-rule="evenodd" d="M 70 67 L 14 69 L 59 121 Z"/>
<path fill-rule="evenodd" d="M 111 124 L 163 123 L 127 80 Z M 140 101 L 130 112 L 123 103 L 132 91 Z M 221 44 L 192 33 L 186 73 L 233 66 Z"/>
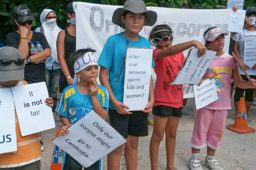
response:
<path fill-rule="evenodd" d="M 222 142 L 227 112 L 227 109 L 195 109 L 194 129 L 190 145 L 193 148 L 201 149 L 207 144 L 212 149 L 218 149 Z"/>

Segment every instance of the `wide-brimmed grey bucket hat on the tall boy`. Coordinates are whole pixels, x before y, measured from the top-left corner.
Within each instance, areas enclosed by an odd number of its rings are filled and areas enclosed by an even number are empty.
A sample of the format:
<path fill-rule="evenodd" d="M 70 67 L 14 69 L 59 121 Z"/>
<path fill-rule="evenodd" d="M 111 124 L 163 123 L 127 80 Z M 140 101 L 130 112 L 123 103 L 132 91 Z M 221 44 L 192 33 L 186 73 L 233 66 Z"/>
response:
<path fill-rule="evenodd" d="M 152 26 L 157 21 L 157 13 L 154 11 L 148 11 L 146 5 L 142 0 L 127 0 L 124 3 L 123 8 L 117 8 L 112 16 L 112 22 L 121 28 L 125 29 L 125 25 L 121 22 L 121 16 L 125 11 L 130 11 L 134 14 L 146 13 L 146 22 L 144 25 Z"/>

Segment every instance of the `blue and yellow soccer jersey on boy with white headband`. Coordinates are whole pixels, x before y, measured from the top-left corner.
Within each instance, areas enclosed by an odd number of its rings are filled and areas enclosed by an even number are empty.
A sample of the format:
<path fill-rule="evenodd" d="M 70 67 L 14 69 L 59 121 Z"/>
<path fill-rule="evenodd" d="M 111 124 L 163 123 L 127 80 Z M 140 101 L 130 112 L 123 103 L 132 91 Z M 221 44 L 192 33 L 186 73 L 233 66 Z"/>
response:
<path fill-rule="evenodd" d="M 99 85 L 97 97 L 101 106 L 108 110 L 108 90 Z M 78 92 L 76 84 L 70 85 L 62 92 L 56 112 L 63 117 L 68 117 L 70 123 L 74 124 L 83 116 L 94 110 L 89 94 L 83 95 Z"/>

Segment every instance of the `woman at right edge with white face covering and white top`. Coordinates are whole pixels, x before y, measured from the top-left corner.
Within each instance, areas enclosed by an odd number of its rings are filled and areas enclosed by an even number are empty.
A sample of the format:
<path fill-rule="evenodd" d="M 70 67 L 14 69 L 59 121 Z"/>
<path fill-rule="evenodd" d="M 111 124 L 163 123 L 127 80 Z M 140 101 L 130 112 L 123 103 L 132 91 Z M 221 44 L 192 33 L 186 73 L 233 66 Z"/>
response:
<path fill-rule="evenodd" d="M 250 21 L 250 25 L 246 27 L 242 33 L 237 33 L 233 37 L 233 51 L 236 54 L 238 60 L 240 60 L 244 66 L 245 69 L 251 69 L 255 74 L 250 75 L 251 78 L 256 78 L 256 62 L 254 63 L 254 66 L 252 68 L 249 68 L 247 64 L 244 63 L 244 37 L 245 36 L 256 36 L 256 27 L 255 27 L 255 20 L 256 20 L 256 7 L 247 7 L 246 8 L 246 17 Z M 252 46 L 250 47 L 256 47 L 255 43 L 252 43 Z M 243 80 L 247 80 L 244 73 L 240 71 L 240 74 Z M 238 109 L 238 104 L 240 97 L 243 97 L 244 91 L 245 91 L 245 106 L 246 106 L 246 112 L 247 112 L 247 121 L 251 122 L 252 118 L 249 116 L 249 109 L 252 105 L 253 101 L 253 94 L 255 89 L 241 89 L 236 87 L 236 92 L 234 95 L 234 104 L 235 109 Z"/>

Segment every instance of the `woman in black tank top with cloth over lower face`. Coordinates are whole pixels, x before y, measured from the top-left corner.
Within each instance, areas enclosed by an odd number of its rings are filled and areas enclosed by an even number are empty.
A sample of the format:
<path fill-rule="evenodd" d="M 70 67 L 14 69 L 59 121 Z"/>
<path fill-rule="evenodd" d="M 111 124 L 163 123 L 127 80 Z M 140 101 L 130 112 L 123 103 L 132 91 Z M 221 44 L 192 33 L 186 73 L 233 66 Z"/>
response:
<path fill-rule="evenodd" d="M 64 88 L 73 84 L 75 75 L 73 64 L 70 62 L 70 55 L 76 51 L 76 25 L 75 25 L 75 3 L 70 2 L 67 5 L 67 22 L 69 26 L 59 32 L 57 38 L 57 53 L 59 64 L 61 66 L 61 75 L 59 80 L 59 92 L 62 93 Z"/>

